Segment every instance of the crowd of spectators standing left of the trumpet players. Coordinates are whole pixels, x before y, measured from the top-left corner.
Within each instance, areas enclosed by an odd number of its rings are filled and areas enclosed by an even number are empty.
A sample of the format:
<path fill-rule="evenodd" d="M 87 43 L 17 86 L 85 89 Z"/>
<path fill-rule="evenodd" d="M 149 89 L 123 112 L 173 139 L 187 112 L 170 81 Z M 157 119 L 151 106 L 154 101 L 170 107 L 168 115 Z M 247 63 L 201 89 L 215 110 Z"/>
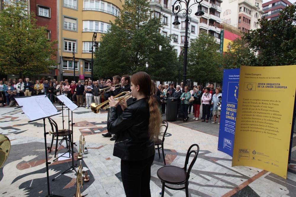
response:
<path fill-rule="evenodd" d="M 99 84 L 111 84 L 111 80 L 97 80 L 92 81 L 85 79 L 84 81 L 69 82 L 68 79 L 64 81 L 57 81 L 56 79 L 47 80 L 42 78 L 35 82 L 30 81 L 29 78 L 23 79 L 8 79 L 5 78 L 0 81 L 0 107 L 9 105 L 11 107 L 17 106 L 15 97 L 46 95 L 49 100 L 59 102 L 57 95 L 65 94 L 69 99 L 75 102 L 78 106 L 89 108 L 92 102 L 97 104 L 104 102 L 107 99 L 108 93 L 99 91 Z"/>

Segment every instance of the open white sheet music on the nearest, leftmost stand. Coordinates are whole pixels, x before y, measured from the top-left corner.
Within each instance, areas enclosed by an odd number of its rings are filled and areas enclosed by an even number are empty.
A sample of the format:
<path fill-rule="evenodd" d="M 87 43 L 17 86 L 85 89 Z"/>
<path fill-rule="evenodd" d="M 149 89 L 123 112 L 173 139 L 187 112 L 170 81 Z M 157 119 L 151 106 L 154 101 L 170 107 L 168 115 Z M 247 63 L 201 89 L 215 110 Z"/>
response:
<path fill-rule="evenodd" d="M 28 116 L 30 121 L 57 115 L 57 108 L 54 107 L 49 98 L 45 95 L 37 95 L 32 97 L 15 97 L 17 103 L 22 106 L 23 112 Z"/>

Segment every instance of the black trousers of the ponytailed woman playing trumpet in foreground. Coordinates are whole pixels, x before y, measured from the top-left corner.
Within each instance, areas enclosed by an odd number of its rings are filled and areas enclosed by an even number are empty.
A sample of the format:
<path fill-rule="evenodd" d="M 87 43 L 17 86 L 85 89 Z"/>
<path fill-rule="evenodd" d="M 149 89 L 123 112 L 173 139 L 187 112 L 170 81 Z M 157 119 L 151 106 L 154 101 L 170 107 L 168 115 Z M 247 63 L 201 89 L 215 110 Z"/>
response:
<path fill-rule="evenodd" d="M 150 197 L 151 165 L 154 154 L 141 161 L 121 160 L 121 178 L 127 197 Z"/>

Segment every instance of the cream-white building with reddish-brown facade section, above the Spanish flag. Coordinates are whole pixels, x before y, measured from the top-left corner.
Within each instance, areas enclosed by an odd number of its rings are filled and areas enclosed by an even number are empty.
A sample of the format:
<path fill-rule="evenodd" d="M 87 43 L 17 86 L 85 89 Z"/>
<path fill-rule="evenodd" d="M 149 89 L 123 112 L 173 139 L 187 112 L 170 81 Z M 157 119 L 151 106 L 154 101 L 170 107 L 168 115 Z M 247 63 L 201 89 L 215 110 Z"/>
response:
<path fill-rule="evenodd" d="M 264 13 L 262 0 L 229 0 L 223 1 L 222 22 L 237 27 L 244 33 L 258 29 L 258 19 Z"/>

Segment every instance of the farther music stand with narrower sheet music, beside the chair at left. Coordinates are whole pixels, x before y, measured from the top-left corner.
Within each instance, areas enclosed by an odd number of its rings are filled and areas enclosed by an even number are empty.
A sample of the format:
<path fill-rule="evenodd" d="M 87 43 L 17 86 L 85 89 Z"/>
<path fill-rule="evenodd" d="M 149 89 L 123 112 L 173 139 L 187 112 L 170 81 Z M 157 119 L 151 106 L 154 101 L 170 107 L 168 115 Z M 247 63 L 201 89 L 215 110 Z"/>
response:
<path fill-rule="evenodd" d="M 70 172 L 70 171 L 72 171 L 72 170 L 74 170 L 76 173 L 77 173 L 77 171 L 76 171 L 76 167 L 77 167 L 77 164 L 76 164 L 76 162 L 74 161 L 74 150 L 73 150 L 73 144 L 75 144 L 75 143 L 73 143 L 73 125 L 75 124 L 75 123 L 73 123 L 73 110 L 75 110 L 76 108 L 78 108 L 78 106 L 75 104 L 75 103 L 73 103 L 68 97 L 66 97 L 65 95 L 58 95 L 57 96 L 57 98 L 62 102 L 62 103 L 64 103 L 66 106 L 67 106 L 67 108 L 68 108 L 68 119 L 69 119 L 69 121 L 68 121 L 68 126 L 69 126 L 69 130 L 70 130 L 70 122 L 72 122 L 71 123 L 71 129 L 72 129 L 72 140 L 71 140 L 71 147 L 72 147 L 72 150 L 70 150 L 70 146 L 69 146 L 69 150 L 67 151 L 67 152 L 65 152 L 64 154 L 66 154 L 66 153 L 68 153 L 69 152 L 69 157 L 70 157 L 70 154 L 71 154 L 71 152 L 72 152 L 72 166 L 70 166 L 67 170 L 65 170 L 64 172 L 62 172 L 61 174 L 59 174 L 59 175 L 57 175 L 55 178 L 53 178 L 52 179 L 52 181 L 54 181 L 57 177 L 59 177 L 60 175 L 62 175 L 62 174 L 65 174 L 65 173 L 67 173 L 67 172 Z M 70 110 L 71 110 L 71 121 L 70 121 Z M 71 136 L 69 136 L 69 138 L 70 138 Z M 62 154 L 61 156 L 59 156 L 59 157 L 62 157 L 64 154 Z M 58 157 L 58 158 L 59 158 Z M 58 159 L 57 158 L 57 159 Z M 55 161 L 55 160 L 57 160 L 57 159 L 54 159 L 53 161 Z M 75 165 L 74 165 L 74 162 L 75 162 Z"/>

